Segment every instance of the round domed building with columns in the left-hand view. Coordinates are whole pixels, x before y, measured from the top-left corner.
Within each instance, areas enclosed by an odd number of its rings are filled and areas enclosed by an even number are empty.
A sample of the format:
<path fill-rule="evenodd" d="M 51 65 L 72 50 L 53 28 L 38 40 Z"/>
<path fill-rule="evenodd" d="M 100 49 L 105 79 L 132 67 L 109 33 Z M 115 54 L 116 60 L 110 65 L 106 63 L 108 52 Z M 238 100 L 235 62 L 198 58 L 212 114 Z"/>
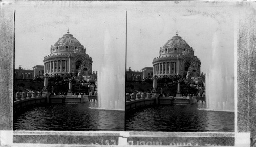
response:
<path fill-rule="evenodd" d="M 73 37 L 64 34 L 50 48 L 51 54 L 44 57 L 44 71 L 48 75 L 77 75 L 81 69 L 85 75 L 92 74 L 92 58 L 86 54 L 86 48 Z"/>

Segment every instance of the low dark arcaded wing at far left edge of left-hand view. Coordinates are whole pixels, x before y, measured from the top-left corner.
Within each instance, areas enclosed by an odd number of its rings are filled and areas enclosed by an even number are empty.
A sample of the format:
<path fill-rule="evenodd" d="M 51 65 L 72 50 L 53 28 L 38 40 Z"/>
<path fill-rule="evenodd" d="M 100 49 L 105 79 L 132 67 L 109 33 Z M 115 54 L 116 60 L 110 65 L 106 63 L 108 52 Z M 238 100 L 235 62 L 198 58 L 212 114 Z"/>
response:
<path fill-rule="evenodd" d="M 31 69 L 23 69 L 21 65 L 14 69 L 14 79 L 32 79 L 33 77 L 34 72 Z"/>

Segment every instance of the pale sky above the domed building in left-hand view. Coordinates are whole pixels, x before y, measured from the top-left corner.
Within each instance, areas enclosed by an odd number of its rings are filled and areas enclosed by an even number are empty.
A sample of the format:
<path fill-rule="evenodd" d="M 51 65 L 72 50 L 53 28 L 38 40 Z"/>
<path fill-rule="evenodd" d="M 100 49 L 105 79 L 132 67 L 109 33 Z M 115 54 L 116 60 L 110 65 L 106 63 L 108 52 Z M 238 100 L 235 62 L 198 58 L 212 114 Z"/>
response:
<path fill-rule="evenodd" d="M 15 69 L 43 65 L 50 47 L 69 29 L 92 57 L 99 71 L 109 56 L 125 71 L 125 11 L 99 2 L 24 2 L 17 4 L 15 17 Z M 108 32 L 108 36 L 106 36 Z M 108 49 L 104 46 L 109 40 Z"/>

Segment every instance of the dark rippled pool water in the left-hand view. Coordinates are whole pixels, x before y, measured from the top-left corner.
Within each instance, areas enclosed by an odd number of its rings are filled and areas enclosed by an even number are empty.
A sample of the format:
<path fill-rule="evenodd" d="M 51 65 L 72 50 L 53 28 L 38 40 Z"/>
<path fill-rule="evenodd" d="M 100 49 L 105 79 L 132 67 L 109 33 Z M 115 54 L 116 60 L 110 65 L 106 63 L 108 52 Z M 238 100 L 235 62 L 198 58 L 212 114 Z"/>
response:
<path fill-rule="evenodd" d="M 14 118 L 15 130 L 124 130 L 124 111 L 89 109 L 84 104 L 31 108 Z"/>

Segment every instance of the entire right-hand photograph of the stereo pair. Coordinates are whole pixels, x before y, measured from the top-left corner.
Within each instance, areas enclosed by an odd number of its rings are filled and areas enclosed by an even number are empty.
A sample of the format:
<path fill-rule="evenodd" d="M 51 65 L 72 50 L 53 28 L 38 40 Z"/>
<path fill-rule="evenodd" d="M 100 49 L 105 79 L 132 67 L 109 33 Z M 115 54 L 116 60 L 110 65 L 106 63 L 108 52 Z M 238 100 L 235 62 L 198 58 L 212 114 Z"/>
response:
<path fill-rule="evenodd" d="M 234 3 L 150 4 L 127 11 L 125 130 L 234 132 Z"/>

